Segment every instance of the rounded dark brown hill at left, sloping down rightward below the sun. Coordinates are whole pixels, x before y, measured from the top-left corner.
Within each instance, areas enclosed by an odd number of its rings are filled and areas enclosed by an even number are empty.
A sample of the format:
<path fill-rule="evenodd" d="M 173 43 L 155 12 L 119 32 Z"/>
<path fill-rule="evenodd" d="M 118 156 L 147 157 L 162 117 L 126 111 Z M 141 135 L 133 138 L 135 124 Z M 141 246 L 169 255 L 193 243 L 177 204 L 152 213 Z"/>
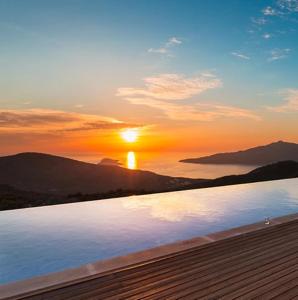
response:
<path fill-rule="evenodd" d="M 42 153 L 0 157 L 0 184 L 38 193 L 68 195 L 117 189 L 165 191 L 197 181 Z"/>

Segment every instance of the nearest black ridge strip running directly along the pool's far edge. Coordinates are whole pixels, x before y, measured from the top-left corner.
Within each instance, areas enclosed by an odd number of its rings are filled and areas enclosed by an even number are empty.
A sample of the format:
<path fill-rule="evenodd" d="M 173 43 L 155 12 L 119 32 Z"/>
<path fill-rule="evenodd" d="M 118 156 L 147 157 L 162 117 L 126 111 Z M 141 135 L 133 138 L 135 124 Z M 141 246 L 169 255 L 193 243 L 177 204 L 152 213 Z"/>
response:
<path fill-rule="evenodd" d="M 65 174 L 64 174 L 65 175 Z M 67 174 L 66 174 L 67 175 Z M 66 176 L 65 175 L 65 176 Z M 247 174 L 230 175 L 216 179 L 193 181 L 188 185 L 173 185 L 171 189 L 162 191 L 175 191 L 184 189 L 207 188 L 223 185 L 250 183 L 267 180 L 277 180 L 298 177 L 298 162 L 282 161 L 268 166 L 259 167 Z M 79 186 L 77 187 L 79 190 Z M 54 193 L 40 193 L 35 191 L 23 191 L 9 185 L 0 185 L 0 210 L 25 208 L 31 206 L 52 205 L 61 203 L 99 200 L 107 198 L 124 197 L 130 195 L 143 195 L 158 192 L 150 189 L 111 189 L 108 192 L 83 193 L 58 195 Z"/>

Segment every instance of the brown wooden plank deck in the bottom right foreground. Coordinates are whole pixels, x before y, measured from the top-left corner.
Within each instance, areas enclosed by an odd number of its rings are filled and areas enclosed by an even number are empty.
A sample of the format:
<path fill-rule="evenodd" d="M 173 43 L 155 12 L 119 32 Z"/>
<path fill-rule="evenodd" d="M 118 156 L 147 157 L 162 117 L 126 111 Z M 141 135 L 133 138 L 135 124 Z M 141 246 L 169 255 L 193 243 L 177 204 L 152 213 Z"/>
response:
<path fill-rule="evenodd" d="M 189 249 L 5 299 L 298 299 L 298 216 L 272 223 L 211 234 Z"/>

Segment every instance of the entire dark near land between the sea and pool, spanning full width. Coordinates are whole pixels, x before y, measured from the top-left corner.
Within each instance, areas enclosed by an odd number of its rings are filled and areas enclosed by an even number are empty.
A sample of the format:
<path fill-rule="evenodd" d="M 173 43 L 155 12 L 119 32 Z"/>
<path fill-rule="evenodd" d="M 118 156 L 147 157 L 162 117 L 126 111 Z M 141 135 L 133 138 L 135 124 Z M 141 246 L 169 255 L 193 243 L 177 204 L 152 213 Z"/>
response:
<path fill-rule="evenodd" d="M 295 161 L 270 164 L 243 175 L 188 179 L 23 153 L 0 158 L 0 210 L 295 177 Z"/>

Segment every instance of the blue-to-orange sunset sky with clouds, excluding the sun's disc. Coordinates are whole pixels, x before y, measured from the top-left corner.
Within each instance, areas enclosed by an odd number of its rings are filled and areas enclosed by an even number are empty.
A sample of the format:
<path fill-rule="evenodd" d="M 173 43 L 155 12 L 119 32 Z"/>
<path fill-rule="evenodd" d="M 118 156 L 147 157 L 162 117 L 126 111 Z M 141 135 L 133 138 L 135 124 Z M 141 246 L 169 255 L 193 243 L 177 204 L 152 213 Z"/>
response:
<path fill-rule="evenodd" d="M 298 142 L 297 70 L 298 0 L 0 0 L 0 152 Z"/>

